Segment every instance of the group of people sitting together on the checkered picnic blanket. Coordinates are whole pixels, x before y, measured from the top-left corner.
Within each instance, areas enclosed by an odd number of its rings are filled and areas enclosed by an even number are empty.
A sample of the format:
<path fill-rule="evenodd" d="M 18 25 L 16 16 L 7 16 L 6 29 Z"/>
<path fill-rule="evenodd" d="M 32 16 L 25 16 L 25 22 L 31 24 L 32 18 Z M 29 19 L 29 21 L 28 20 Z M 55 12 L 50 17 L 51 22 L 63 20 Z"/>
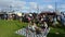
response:
<path fill-rule="evenodd" d="M 48 27 L 47 22 L 43 22 L 43 24 L 41 24 L 39 26 L 35 22 L 28 23 L 28 29 L 32 33 L 36 32 L 36 34 L 41 34 L 42 30 L 46 30 L 49 27 Z"/>

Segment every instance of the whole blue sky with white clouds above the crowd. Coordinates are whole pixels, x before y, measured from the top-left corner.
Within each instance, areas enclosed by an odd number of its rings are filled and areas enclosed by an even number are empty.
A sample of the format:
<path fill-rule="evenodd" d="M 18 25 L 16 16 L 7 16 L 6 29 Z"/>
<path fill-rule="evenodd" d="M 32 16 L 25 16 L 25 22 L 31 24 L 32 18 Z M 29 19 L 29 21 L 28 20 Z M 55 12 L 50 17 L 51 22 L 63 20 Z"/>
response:
<path fill-rule="evenodd" d="M 65 11 L 65 0 L 0 0 L 0 11 L 54 11 L 55 3 L 58 11 Z"/>

